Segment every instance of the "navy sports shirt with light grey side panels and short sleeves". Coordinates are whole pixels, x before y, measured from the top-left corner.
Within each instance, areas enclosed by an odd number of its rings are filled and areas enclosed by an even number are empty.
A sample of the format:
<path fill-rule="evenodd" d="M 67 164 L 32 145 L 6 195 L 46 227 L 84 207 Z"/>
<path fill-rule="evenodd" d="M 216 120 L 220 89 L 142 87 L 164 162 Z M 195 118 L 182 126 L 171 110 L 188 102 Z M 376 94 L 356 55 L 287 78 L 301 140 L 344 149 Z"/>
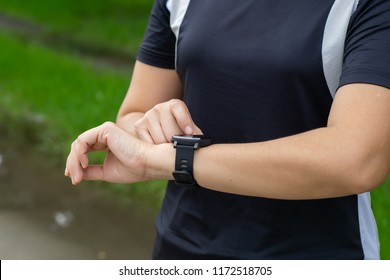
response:
<path fill-rule="evenodd" d="M 339 86 L 390 87 L 390 1 L 155 0 L 138 59 L 177 70 L 214 143 L 273 140 L 326 126 Z M 169 182 L 156 228 L 155 259 L 379 258 L 369 193 L 284 201 Z"/>

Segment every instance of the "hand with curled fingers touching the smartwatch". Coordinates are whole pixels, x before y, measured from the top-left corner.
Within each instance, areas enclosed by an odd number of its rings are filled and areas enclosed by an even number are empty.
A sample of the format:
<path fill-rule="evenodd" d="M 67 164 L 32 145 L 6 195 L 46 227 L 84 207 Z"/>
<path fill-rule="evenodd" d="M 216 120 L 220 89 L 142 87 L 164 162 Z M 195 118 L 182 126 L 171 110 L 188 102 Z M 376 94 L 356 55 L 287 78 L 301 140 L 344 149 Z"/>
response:
<path fill-rule="evenodd" d="M 203 134 L 183 101 L 172 99 L 157 104 L 135 123 L 140 140 L 150 144 L 169 143 L 173 135 Z"/>

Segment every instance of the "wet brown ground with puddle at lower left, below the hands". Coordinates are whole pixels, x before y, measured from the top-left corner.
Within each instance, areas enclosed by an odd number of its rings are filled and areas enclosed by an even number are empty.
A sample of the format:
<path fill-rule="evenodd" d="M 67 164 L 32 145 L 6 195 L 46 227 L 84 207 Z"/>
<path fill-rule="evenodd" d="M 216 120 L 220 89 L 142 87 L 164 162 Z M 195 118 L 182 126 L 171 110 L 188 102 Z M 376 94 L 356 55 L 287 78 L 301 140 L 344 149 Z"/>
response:
<path fill-rule="evenodd" d="M 149 259 L 156 209 L 0 138 L 0 259 Z M 58 161 L 57 161 L 58 162 Z"/>

